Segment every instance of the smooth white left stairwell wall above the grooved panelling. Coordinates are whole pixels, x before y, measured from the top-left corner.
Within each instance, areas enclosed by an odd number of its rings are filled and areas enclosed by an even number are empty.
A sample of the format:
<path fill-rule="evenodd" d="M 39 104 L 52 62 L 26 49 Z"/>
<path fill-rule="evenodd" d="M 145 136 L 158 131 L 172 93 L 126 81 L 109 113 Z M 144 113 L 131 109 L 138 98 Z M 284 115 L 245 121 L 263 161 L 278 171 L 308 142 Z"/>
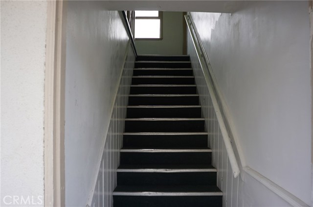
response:
<path fill-rule="evenodd" d="M 86 206 L 98 175 L 128 36 L 101 1 L 67 2 L 66 206 Z"/>

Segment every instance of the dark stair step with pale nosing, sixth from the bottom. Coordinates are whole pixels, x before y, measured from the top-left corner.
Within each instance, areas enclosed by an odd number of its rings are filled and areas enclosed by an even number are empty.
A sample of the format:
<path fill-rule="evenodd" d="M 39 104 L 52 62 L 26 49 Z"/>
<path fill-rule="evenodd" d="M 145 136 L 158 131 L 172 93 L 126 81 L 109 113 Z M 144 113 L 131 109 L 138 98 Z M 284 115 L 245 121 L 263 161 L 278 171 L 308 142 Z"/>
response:
<path fill-rule="evenodd" d="M 200 118 L 201 106 L 129 106 L 127 118 Z"/>

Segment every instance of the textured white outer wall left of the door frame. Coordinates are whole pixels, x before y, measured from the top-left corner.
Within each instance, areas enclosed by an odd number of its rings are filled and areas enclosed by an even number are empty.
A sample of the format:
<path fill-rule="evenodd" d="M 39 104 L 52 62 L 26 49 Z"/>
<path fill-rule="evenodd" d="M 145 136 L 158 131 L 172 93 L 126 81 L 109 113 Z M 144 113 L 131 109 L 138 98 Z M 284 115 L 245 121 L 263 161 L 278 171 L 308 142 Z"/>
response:
<path fill-rule="evenodd" d="M 0 5 L 0 206 L 43 206 L 47 2 Z"/>

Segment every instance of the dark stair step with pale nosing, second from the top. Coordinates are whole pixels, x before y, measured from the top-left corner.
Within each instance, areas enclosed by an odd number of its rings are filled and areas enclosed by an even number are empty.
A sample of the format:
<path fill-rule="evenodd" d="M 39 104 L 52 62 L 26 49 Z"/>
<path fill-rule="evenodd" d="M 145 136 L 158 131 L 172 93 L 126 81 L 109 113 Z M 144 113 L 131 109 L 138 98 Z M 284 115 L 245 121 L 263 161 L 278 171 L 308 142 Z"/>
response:
<path fill-rule="evenodd" d="M 190 61 L 135 61 L 135 68 L 191 68 Z"/>

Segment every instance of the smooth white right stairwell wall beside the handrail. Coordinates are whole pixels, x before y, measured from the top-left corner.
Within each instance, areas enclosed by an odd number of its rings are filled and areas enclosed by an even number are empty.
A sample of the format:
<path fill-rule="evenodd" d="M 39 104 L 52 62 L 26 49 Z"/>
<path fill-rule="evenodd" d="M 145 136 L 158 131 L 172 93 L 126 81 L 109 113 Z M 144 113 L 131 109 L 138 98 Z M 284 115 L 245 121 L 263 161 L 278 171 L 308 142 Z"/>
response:
<path fill-rule="evenodd" d="M 245 165 L 311 204 L 308 2 L 246 2 L 233 14 L 192 17 L 234 120 Z M 268 200 L 268 189 L 256 187 L 250 177 L 239 189 L 245 206 L 286 205 L 274 194 Z"/>

